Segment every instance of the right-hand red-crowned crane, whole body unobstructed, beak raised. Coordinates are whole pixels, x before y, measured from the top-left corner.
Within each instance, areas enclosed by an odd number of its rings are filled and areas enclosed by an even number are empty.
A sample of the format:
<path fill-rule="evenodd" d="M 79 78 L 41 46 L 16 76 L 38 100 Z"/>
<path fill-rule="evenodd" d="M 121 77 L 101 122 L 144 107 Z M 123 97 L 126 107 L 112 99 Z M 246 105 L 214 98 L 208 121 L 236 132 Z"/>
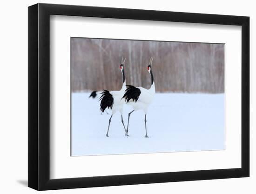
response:
<path fill-rule="evenodd" d="M 148 113 L 148 107 L 155 95 L 155 82 L 154 82 L 154 77 L 152 73 L 152 61 L 153 61 L 153 57 L 150 58 L 149 65 L 148 65 L 148 72 L 151 75 L 151 87 L 149 89 L 145 89 L 143 87 L 134 87 L 134 86 L 128 85 L 127 89 L 125 90 L 125 94 L 122 97 L 122 99 L 125 99 L 128 105 L 131 105 L 133 107 L 133 111 L 128 114 L 128 124 L 127 124 L 127 131 L 126 131 L 127 135 L 128 135 L 130 115 L 134 111 L 143 110 L 145 113 L 145 120 L 144 120 L 145 130 L 146 130 L 145 137 L 148 137 L 147 113 Z"/>

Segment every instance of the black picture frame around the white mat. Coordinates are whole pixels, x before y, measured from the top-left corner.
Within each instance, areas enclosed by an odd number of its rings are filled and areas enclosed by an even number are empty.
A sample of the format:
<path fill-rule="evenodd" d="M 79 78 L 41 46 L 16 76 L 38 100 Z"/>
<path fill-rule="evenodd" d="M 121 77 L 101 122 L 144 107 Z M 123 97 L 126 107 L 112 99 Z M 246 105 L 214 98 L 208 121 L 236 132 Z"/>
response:
<path fill-rule="evenodd" d="M 242 26 L 242 167 L 50 179 L 50 15 Z M 52 190 L 248 176 L 249 17 L 41 3 L 28 7 L 28 187 L 36 190 Z"/>

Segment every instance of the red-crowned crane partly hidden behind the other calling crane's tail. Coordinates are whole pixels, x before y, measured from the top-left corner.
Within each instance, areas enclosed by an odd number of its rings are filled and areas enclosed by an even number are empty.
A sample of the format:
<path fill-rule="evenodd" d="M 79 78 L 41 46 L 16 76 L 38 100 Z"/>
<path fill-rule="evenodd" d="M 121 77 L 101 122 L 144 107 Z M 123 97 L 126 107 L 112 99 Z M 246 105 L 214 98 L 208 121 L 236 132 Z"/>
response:
<path fill-rule="evenodd" d="M 108 131 L 109 131 L 109 126 L 110 126 L 110 122 L 111 122 L 111 118 L 113 116 L 113 114 L 115 114 L 116 112 L 120 112 L 121 114 L 121 122 L 123 124 L 124 127 L 124 131 L 125 131 L 125 135 L 127 135 L 127 131 L 125 129 L 124 123 L 123 123 L 123 105 L 125 104 L 125 100 L 121 99 L 122 96 L 125 93 L 125 89 L 126 89 L 126 82 L 125 82 L 125 74 L 124 74 L 124 62 L 125 59 L 121 59 L 121 64 L 120 64 L 120 70 L 122 73 L 122 88 L 121 90 L 118 91 L 108 91 L 108 90 L 103 90 L 103 92 L 101 93 L 101 97 L 100 97 L 100 101 L 101 101 L 101 105 L 100 105 L 100 110 L 101 112 L 104 112 L 106 108 L 110 108 L 112 110 L 112 114 L 110 116 L 110 119 L 108 121 Z M 106 136 L 108 137 L 108 131 Z"/>

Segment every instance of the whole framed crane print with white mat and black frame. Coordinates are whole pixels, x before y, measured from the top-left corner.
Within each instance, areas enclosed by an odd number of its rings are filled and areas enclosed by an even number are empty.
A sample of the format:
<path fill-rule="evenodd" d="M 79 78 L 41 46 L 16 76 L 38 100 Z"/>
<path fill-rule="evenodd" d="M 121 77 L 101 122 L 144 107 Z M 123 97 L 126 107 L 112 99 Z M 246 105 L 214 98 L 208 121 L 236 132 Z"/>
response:
<path fill-rule="evenodd" d="M 28 187 L 249 176 L 249 17 L 28 7 Z"/>

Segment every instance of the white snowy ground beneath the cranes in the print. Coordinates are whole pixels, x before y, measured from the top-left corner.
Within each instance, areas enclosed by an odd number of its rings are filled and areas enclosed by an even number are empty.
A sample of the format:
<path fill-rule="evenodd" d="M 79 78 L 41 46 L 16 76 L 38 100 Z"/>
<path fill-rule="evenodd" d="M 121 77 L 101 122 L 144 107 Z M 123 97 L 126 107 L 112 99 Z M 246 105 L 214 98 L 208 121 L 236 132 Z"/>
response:
<path fill-rule="evenodd" d="M 131 114 L 125 137 L 121 115 L 100 113 L 99 102 L 90 93 L 72 94 L 72 156 L 135 154 L 225 149 L 224 94 L 155 94 L 147 114 Z M 131 107 L 124 108 L 127 126 Z M 109 111 L 111 113 L 111 111 Z"/>

